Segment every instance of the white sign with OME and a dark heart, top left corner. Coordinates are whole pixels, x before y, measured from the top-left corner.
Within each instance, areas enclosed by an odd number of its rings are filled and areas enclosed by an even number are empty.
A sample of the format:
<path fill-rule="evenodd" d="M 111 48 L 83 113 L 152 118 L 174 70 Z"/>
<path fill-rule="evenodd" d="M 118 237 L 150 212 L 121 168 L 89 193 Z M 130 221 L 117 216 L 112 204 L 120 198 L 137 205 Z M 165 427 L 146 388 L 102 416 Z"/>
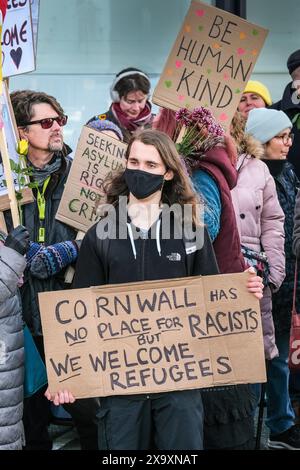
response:
<path fill-rule="evenodd" d="M 3 76 L 35 69 L 30 0 L 8 0 L 2 29 Z"/>

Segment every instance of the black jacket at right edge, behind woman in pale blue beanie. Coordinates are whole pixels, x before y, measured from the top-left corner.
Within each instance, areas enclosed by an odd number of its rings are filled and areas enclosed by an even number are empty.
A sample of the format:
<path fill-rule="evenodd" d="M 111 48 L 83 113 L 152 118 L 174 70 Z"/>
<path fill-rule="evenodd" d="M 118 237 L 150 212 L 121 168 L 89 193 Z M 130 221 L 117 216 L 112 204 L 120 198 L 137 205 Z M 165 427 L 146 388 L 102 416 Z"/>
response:
<path fill-rule="evenodd" d="M 295 90 L 291 87 L 292 83 L 290 82 L 286 86 L 281 100 L 274 103 L 270 108 L 284 111 L 293 122 L 292 133 L 294 134 L 294 142 L 287 158 L 294 165 L 295 173 L 298 179 L 300 179 L 300 100 L 297 100 L 298 104 L 294 104 L 292 101 L 292 94 L 295 93 Z"/>

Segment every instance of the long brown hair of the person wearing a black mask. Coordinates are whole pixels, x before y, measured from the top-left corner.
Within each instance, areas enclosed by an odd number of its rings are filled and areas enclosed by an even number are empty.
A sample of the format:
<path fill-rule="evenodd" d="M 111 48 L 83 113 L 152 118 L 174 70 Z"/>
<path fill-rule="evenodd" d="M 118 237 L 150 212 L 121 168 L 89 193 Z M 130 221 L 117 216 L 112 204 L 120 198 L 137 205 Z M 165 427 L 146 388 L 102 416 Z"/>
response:
<path fill-rule="evenodd" d="M 162 161 L 168 170 L 173 171 L 173 179 L 165 181 L 162 189 L 161 202 L 171 206 L 172 204 L 185 204 L 192 206 L 193 222 L 199 225 L 197 204 L 199 198 L 192 188 L 190 179 L 186 174 L 176 146 L 167 134 L 153 129 L 145 129 L 134 135 L 130 140 L 125 157 L 128 159 L 133 142 L 139 141 L 145 145 L 153 145 L 158 151 Z M 124 173 L 119 173 L 104 184 L 106 202 L 117 205 L 119 196 L 128 196 L 129 190 L 125 182 Z"/>

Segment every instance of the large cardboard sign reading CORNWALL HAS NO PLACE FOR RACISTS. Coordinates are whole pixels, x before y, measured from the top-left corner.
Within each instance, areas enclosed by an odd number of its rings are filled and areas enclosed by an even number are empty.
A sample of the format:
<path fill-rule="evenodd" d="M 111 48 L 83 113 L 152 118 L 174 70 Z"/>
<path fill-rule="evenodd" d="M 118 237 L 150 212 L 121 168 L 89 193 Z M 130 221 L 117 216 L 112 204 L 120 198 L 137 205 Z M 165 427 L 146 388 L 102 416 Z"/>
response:
<path fill-rule="evenodd" d="M 39 294 L 50 390 L 80 398 L 266 381 L 247 276 Z"/>

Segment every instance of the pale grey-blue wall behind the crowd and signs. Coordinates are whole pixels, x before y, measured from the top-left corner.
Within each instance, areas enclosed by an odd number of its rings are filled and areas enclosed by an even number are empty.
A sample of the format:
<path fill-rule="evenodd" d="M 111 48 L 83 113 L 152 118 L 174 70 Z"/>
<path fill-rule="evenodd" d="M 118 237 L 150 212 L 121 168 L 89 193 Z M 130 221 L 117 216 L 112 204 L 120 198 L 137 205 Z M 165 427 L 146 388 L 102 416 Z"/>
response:
<path fill-rule="evenodd" d="M 12 77 L 10 90 L 53 94 L 69 115 L 65 140 L 74 148 L 82 125 L 107 110 L 110 84 L 122 68 L 146 71 L 155 86 L 189 5 L 190 0 L 40 0 L 37 69 Z M 249 21 L 270 29 L 253 78 L 277 100 L 289 81 L 286 59 L 300 48 L 300 3 L 249 0 L 247 12 Z"/>

